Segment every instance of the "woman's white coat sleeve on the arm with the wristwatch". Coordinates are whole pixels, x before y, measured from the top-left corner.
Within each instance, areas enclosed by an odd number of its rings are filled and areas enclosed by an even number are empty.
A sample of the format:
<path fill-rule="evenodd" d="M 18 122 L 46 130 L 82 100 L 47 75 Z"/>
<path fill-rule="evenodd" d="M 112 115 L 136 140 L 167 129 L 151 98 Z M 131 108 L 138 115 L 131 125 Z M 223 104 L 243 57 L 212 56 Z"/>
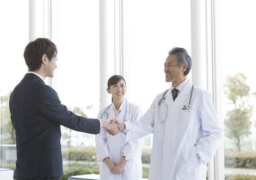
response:
<path fill-rule="evenodd" d="M 131 114 L 131 122 L 138 122 L 142 116 L 142 110 L 136 106 L 133 108 Z M 135 159 L 141 154 L 141 148 L 144 144 L 143 138 L 137 138 L 130 140 L 126 146 L 124 146 L 123 153 L 131 159 Z"/>

